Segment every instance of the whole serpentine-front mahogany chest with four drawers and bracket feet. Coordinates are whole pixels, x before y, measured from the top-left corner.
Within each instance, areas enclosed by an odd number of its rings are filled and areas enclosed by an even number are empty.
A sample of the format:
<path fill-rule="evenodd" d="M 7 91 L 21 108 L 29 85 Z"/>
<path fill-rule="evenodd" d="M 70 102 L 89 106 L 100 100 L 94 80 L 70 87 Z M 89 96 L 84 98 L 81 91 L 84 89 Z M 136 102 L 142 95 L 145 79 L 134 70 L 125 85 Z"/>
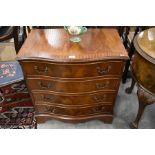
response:
<path fill-rule="evenodd" d="M 81 39 L 70 42 L 63 29 L 35 29 L 19 51 L 38 122 L 112 122 L 127 53 L 115 29 L 88 29 Z"/>

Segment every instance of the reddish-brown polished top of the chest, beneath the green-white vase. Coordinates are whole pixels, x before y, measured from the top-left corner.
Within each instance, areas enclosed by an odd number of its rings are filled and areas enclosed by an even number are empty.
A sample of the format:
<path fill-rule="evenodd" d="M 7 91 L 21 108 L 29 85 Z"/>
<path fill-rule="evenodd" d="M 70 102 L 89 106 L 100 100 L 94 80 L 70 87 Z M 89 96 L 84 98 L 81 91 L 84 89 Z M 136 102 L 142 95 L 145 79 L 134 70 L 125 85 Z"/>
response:
<path fill-rule="evenodd" d="M 95 61 L 128 59 L 116 29 L 88 29 L 81 42 L 73 43 L 64 29 L 33 29 L 17 59 L 50 61 Z"/>

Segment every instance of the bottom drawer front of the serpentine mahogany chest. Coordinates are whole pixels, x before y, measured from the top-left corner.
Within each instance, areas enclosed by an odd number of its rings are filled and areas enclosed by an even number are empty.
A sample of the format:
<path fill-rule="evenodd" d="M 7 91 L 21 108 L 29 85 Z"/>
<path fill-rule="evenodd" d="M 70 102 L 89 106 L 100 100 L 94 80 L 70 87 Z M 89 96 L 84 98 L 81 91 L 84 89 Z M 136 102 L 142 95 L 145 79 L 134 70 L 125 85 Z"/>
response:
<path fill-rule="evenodd" d="M 36 105 L 35 106 L 37 113 L 41 114 L 57 114 L 57 115 L 70 115 L 70 116 L 85 116 L 92 114 L 105 114 L 112 113 L 111 105 L 98 105 L 98 106 L 90 106 L 90 107 L 76 107 L 76 108 L 62 108 L 57 106 L 50 105 Z"/>

